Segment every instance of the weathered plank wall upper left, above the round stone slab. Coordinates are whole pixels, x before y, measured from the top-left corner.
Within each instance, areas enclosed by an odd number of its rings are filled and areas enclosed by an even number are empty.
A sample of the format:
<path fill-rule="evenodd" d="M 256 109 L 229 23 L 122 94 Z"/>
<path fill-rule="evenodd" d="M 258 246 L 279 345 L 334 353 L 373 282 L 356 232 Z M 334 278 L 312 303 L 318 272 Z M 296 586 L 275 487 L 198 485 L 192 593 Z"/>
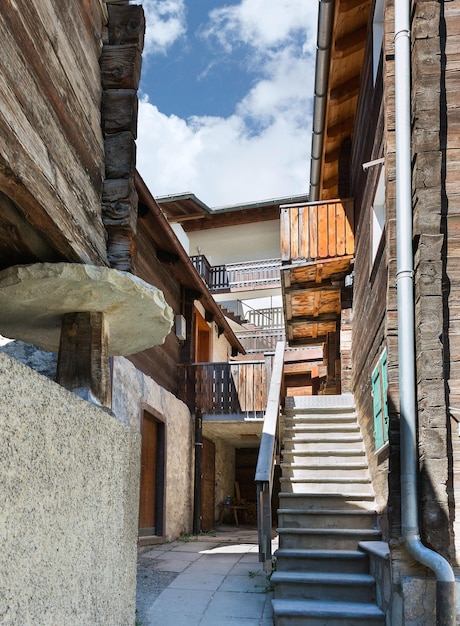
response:
<path fill-rule="evenodd" d="M 106 262 L 101 0 L 16 0 L 0 12 L 0 191 L 59 258 Z"/>

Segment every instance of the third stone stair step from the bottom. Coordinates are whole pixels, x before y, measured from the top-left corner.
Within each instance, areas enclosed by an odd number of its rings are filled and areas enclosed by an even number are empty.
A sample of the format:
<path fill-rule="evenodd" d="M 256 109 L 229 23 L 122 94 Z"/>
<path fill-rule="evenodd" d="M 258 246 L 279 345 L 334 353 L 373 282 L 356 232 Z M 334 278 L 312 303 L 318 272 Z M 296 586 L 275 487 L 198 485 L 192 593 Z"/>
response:
<path fill-rule="evenodd" d="M 298 550 L 279 548 L 276 570 L 367 574 L 369 557 L 362 550 Z"/>

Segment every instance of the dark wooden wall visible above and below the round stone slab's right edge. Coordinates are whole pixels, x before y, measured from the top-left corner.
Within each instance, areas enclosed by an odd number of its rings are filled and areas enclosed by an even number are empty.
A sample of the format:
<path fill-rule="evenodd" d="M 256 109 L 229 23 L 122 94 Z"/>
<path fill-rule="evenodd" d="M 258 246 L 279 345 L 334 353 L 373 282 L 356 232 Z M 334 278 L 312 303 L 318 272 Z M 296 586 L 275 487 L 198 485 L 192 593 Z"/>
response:
<path fill-rule="evenodd" d="M 145 221 L 142 219 L 138 220 L 135 247 L 135 274 L 161 289 L 174 314 L 180 313 L 181 286 L 171 271 L 170 265 L 158 260 L 154 243 L 148 234 Z M 153 346 L 149 350 L 144 350 L 128 358 L 144 374 L 153 378 L 156 383 L 171 393 L 177 394 L 177 364 L 181 359 L 179 342 L 173 330 L 162 345 Z"/>

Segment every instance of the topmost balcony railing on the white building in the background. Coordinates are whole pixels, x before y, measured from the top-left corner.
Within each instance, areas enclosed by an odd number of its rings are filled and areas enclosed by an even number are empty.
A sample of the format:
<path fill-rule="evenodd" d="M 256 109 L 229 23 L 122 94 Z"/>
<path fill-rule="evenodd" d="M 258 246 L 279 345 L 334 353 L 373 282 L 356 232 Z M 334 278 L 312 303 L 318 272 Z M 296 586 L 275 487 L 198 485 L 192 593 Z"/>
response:
<path fill-rule="evenodd" d="M 202 254 L 190 258 L 210 291 L 214 293 L 249 291 L 280 285 L 281 261 L 279 259 L 211 265 Z"/>

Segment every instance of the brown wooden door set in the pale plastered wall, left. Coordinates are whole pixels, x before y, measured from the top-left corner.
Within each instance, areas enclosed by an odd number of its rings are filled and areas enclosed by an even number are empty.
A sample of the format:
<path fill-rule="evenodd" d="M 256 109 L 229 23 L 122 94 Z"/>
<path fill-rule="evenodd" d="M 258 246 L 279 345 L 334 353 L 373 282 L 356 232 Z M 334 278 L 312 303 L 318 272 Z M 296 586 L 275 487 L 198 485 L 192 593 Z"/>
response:
<path fill-rule="evenodd" d="M 142 420 L 139 534 L 162 535 L 164 424 L 145 412 Z"/>

